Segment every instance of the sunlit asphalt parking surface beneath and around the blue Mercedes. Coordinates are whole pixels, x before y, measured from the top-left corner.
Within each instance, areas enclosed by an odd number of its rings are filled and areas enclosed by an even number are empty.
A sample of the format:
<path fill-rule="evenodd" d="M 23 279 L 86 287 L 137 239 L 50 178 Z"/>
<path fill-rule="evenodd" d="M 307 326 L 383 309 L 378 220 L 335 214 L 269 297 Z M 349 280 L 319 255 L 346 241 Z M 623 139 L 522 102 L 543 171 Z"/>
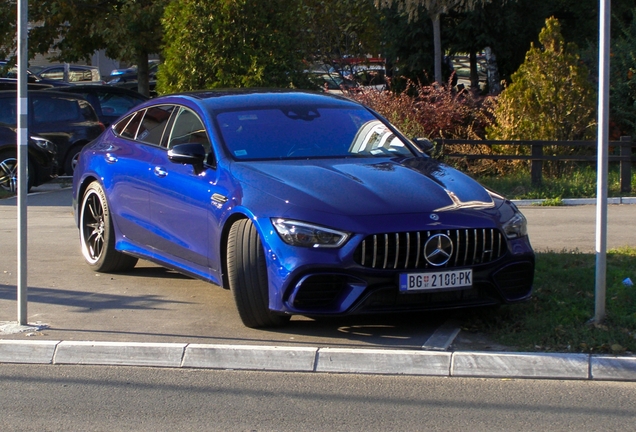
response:
<path fill-rule="evenodd" d="M 294 317 L 283 329 L 248 329 L 231 293 L 214 285 L 146 261 L 127 274 L 90 271 L 79 250 L 70 189 L 39 190 L 28 197 L 28 320 L 48 328 L 32 332 L 35 339 L 420 349 L 453 317 Z M 522 211 L 536 250 L 594 252 L 594 206 Z M 636 206 L 612 205 L 608 214 L 608 247 L 636 246 Z M 0 200 L 0 323 L 17 317 L 16 218 L 15 199 Z"/>

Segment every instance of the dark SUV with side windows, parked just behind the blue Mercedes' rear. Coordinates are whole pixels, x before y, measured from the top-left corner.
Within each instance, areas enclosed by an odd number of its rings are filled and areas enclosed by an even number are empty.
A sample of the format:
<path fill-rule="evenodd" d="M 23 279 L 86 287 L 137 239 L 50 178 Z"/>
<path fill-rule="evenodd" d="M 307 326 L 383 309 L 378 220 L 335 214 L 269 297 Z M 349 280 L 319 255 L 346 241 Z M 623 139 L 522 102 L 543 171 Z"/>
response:
<path fill-rule="evenodd" d="M 29 133 L 57 144 L 60 173 L 73 174 L 75 161 L 86 144 L 104 131 L 95 110 L 80 95 L 29 91 Z M 0 123 L 16 125 L 17 93 L 0 91 Z"/>

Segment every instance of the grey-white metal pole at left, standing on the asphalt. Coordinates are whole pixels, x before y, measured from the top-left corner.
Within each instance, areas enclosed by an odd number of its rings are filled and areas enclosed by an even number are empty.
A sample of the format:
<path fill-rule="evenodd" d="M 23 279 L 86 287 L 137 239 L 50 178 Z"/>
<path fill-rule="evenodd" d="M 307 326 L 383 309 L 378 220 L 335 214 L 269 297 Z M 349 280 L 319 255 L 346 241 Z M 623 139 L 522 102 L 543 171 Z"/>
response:
<path fill-rule="evenodd" d="M 18 1 L 18 324 L 27 324 L 27 25 L 28 0 Z"/>

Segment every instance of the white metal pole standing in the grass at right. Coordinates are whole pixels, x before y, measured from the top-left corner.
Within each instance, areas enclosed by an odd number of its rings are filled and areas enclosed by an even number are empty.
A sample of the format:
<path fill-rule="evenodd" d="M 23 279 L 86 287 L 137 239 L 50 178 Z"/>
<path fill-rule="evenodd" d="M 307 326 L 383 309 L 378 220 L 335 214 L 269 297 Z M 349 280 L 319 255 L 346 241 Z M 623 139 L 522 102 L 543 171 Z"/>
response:
<path fill-rule="evenodd" d="M 599 8 L 599 88 L 598 164 L 596 180 L 596 305 L 594 322 L 605 319 L 607 273 L 607 159 L 609 150 L 609 62 L 610 0 L 600 0 Z"/>

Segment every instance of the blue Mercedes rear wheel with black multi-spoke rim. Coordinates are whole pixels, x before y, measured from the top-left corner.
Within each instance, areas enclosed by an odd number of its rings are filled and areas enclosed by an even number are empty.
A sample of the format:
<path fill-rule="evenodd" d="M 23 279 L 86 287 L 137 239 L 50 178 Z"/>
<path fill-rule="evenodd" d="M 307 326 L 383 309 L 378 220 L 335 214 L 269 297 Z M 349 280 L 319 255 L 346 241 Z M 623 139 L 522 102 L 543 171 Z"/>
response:
<path fill-rule="evenodd" d="M 115 233 L 104 190 L 91 183 L 80 208 L 80 242 L 86 263 L 102 273 L 124 272 L 137 264 L 137 258 L 115 250 Z"/>

